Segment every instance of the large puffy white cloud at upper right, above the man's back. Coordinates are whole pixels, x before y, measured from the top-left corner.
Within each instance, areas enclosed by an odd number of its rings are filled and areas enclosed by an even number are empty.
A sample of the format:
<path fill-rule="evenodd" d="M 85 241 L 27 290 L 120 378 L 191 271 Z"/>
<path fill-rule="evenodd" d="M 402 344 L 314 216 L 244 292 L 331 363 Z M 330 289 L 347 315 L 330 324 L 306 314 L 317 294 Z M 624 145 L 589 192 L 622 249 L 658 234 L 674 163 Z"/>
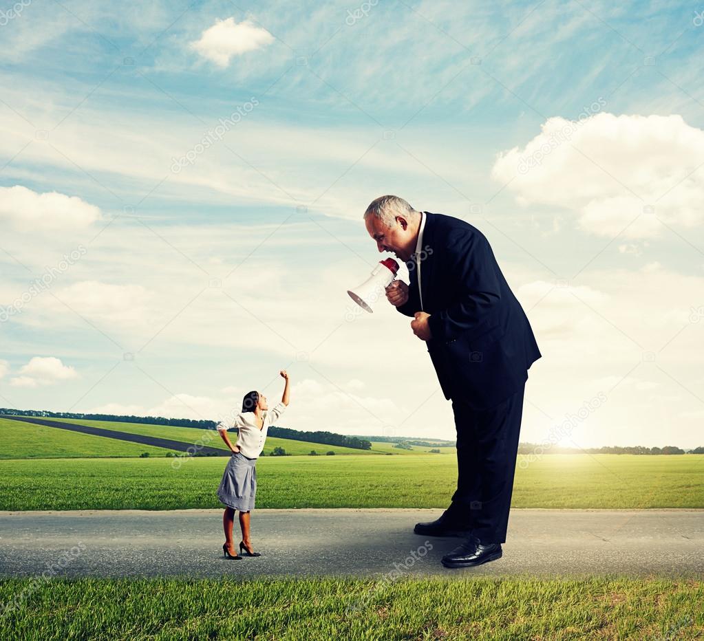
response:
<path fill-rule="evenodd" d="M 520 205 L 571 210 L 584 231 L 629 239 L 704 221 L 704 131 L 680 115 L 598 113 L 548 118 L 524 148 L 499 154 L 491 176 Z M 627 251 L 624 248 L 622 251 Z"/>

